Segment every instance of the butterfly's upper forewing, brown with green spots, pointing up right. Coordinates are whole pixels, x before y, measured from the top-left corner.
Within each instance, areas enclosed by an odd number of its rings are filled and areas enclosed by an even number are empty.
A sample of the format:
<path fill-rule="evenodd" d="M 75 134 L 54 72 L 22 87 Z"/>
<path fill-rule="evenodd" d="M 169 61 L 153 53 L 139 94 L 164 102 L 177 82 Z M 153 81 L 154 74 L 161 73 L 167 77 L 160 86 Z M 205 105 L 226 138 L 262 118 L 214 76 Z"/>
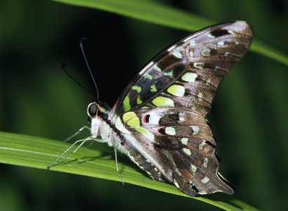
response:
<path fill-rule="evenodd" d="M 129 83 L 112 116 L 138 108 L 181 107 L 206 116 L 218 85 L 248 51 L 251 26 L 237 21 L 204 28 L 153 58 Z"/>

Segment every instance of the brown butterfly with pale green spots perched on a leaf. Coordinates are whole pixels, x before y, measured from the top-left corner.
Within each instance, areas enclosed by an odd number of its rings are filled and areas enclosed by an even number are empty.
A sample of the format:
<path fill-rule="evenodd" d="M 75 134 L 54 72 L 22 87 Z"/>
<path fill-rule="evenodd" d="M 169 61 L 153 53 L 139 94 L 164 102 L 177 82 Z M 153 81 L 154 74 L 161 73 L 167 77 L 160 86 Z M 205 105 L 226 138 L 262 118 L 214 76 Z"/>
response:
<path fill-rule="evenodd" d="M 232 194 L 234 186 L 218 172 L 206 116 L 218 85 L 252 39 L 251 25 L 235 21 L 176 41 L 140 70 L 112 108 L 98 99 L 89 104 L 91 136 L 82 143 L 106 142 L 153 180 L 170 181 L 189 196 Z"/>

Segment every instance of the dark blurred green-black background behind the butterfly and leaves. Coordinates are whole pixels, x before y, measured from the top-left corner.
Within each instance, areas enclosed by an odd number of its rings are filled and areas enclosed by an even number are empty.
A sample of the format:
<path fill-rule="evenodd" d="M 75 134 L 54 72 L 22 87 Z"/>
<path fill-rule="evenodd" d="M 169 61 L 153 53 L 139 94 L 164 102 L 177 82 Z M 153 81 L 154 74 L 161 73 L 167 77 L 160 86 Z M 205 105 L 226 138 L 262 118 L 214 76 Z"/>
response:
<path fill-rule="evenodd" d="M 256 39 L 287 52 L 285 0 L 162 2 L 216 23 L 246 20 Z M 93 95 L 61 70 L 68 62 L 68 72 L 95 90 L 79 50 L 82 37 L 100 99 L 113 106 L 140 68 L 185 34 L 53 1 L 1 1 L 1 131 L 63 140 L 88 125 Z M 287 200 L 287 78 L 287 66 L 249 51 L 224 79 L 208 116 L 221 174 L 237 186 L 235 198 L 261 210 L 284 209 Z M 219 210 L 103 179 L 3 164 L 0 171 L 0 210 Z"/>

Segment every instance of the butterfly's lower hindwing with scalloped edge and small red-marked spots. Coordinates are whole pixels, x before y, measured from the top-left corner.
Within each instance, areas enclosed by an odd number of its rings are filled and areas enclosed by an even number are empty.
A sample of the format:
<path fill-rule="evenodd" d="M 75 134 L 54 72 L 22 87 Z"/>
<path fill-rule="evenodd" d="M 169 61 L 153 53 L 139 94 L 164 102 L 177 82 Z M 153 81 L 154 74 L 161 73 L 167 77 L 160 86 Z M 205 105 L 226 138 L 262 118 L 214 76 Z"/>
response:
<path fill-rule="evenodd" d="M 216 139 L 202 114 L 187 108 L 146 108 L 122 119 L 124 147 L 152 179 L 173 181 L 190 196 L 233 193 L 233 186 L 218 174 Z"/>

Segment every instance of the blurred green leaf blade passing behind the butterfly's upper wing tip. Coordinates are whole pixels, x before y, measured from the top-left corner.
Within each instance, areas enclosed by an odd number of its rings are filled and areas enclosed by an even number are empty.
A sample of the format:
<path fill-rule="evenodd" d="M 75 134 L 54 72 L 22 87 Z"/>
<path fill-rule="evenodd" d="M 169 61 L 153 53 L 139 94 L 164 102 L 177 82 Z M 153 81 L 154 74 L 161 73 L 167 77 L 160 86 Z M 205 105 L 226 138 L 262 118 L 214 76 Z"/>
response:
<path fill-rule="evenodd" d="M 215 21 L 202 18 L 188 11 L 159 4 L 155 1 L 147 0 L 53 0 L 75 6 L 85 6 L 97 8 L 111 13 L 117 13 L 129 18 L 144 20 L 150 23 L 173 27 L 179 30 L 195 31 L 208 25 L 215 24 Z M 261 41 L 254 39 L 251 51 L 277 60 L 288 66 L 288 55 Z"/>

